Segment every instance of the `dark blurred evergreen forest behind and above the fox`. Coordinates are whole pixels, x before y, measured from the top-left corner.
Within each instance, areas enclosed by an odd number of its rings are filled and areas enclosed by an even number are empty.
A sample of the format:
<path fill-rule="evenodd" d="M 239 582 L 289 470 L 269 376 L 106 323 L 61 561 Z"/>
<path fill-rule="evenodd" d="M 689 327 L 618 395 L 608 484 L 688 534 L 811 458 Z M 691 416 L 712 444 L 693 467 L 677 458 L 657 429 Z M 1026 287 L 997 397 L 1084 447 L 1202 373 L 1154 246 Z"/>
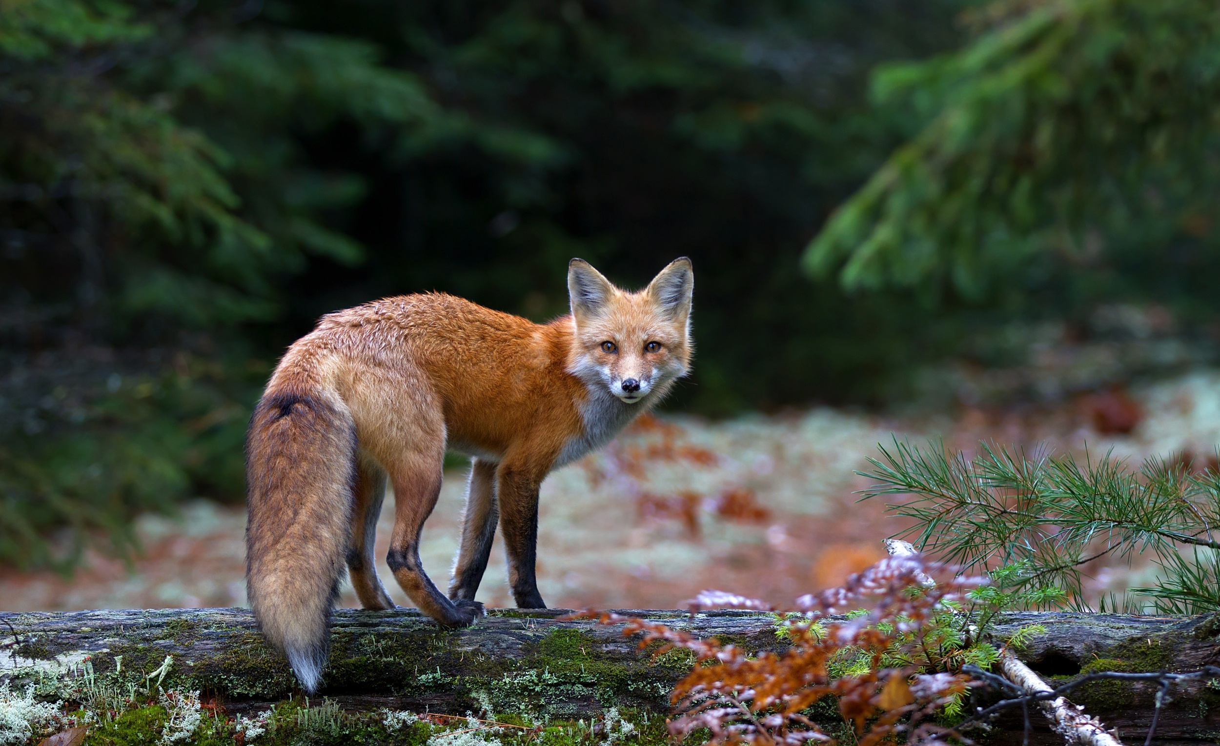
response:
<path fill-rule="evenodd" d="M 709 416 L 909 403 L 1047 324 L 1209 360 L 1218 12 L 0 0 L 0 558 L 242 500 L 250 406 L 320 314 L 543 321 L 573 256 L 693 258 L 667 406 Z"/>

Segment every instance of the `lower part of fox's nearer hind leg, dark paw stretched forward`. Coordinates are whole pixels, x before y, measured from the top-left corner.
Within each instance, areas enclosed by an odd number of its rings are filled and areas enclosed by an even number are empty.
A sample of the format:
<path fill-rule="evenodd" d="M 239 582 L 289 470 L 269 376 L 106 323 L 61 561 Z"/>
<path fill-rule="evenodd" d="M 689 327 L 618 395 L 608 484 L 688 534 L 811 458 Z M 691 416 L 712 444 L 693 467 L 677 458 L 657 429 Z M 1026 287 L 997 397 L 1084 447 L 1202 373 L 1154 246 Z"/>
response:
<path fill-rule="evenodd" d="M 445 627 L 467 627 L 482 616 L 477 601 L 450 601 L 423 572 L 420 562 L 420 531 L 440 496 L 444 466 L 444 439 L 436 453 L 404 453 L 394 464 L 386 464 L 394 485 L 394 534 L 386 557 L 394 579 L 420 608 Z"/>

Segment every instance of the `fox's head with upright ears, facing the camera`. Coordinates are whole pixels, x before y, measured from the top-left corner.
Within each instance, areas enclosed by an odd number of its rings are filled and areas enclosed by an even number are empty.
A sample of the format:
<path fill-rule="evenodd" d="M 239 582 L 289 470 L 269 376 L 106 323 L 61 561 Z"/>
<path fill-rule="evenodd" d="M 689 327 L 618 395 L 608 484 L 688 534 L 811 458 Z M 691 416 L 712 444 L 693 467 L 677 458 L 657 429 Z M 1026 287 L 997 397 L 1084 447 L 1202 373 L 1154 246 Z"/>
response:
<path fill-rule="evenodd" d="M 615 288 L 584 260 L 567 265 L 576 344 L 569 371 L 627 403 L 656 399 L 691 362 L 691 260 L 673 260 L 639 293 Z M 650 396 L 650 395 L 656 396 Z"/>

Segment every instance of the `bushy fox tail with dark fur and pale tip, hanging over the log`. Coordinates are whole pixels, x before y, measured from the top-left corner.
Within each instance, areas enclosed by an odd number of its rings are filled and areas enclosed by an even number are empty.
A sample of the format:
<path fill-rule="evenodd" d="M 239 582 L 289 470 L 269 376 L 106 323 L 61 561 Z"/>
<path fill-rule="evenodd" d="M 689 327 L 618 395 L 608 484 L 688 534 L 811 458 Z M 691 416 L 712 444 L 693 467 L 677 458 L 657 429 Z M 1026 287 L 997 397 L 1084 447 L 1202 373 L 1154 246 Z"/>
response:
<path fill-rule="evenodd" d="M 321 388 L 268 390 L 246 439 L 246 588 L 267 641 L 314 692 L 348 552 L 355 424 Z"/>

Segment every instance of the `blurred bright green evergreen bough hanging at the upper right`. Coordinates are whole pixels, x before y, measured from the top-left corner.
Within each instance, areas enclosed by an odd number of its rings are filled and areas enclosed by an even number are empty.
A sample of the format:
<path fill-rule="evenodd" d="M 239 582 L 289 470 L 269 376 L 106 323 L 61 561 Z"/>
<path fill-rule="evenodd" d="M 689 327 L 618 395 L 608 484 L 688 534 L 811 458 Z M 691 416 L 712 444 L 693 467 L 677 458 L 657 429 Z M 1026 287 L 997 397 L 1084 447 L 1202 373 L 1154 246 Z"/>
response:
<path fill-rule="evenodd" d="M 1220 9 L 1006 0 L 972 17 L 964 49 L 878 69 L 875 98 L 921 129 L 805 267 L 848 288 L 1060 314 L 1121 299 L 1214 322 Z"/>

